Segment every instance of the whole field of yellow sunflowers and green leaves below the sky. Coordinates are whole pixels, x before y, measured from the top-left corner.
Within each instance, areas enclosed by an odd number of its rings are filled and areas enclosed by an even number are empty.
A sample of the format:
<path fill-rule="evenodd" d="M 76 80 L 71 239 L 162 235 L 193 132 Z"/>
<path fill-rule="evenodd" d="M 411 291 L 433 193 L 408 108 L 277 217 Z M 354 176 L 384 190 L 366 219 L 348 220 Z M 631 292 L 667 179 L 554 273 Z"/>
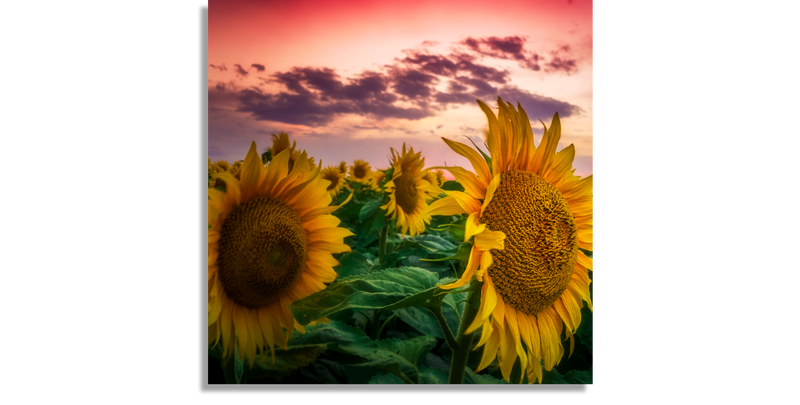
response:
<path fill-rule="evenodd" d="M 595 385 L 594 175 L 558 114 L 536 145 L 478 103 L 483 148 L 442 138 L 469 168 L 322 167 L 285 133 L 209 158 L 212 384 Z"/>

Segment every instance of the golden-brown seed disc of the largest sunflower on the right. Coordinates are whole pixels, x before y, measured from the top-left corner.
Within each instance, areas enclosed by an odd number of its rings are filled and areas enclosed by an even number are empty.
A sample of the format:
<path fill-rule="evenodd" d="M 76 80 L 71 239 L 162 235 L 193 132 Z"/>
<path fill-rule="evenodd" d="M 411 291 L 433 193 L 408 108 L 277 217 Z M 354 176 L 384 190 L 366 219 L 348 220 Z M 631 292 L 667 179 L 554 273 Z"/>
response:
<path fill-rule="evenodd" d="M 578 257 L 578 228 L 564 196 L 547 180 L 524 171 L 502 174 L 480 222 L 506 234 L 492 249 L 489 275 L 503 300 L 536 314 L 567 289 Z"/>

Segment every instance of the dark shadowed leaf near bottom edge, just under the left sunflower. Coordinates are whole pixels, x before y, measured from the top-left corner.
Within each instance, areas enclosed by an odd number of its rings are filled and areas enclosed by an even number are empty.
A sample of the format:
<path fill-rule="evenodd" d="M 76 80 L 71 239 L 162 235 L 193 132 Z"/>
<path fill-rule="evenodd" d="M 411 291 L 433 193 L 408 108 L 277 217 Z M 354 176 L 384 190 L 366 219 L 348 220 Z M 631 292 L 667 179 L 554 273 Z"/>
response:
<path fill-rule="evenodd" d="M 288 347 L 289 350 L 286 351 L 276 348 L 275 364 L 272 364 L 271 354 L 258 354 L 252 368 L 244 367 L 244 376 L 254 380 L 264 377 L 273 377 L 280 380 L 282 377 L 291 374 L 292 371 L 306 367 L 325 352 L 326 347 L 327 344 L 292 346 Z"/>

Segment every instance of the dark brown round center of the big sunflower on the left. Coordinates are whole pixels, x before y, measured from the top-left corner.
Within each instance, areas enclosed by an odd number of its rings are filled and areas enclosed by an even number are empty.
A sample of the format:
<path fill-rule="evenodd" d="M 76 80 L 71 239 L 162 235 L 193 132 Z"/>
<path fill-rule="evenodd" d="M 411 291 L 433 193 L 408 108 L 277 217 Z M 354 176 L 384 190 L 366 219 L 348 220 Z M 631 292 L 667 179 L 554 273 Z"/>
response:
<path fill-rule="evenodd" d="M 286 204 L 256 197 L 226 218 L 219 239 L 219 280 L 236 303 L 259 308 L 294 284 L 306 261 L 300 218 Z"/>

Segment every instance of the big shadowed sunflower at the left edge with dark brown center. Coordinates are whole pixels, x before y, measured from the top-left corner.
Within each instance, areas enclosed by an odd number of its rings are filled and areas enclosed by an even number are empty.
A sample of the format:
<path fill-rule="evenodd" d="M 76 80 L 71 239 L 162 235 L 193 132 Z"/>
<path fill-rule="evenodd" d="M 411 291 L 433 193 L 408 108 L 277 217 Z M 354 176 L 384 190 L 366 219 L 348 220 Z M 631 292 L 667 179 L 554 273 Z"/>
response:
<path fill-rule="evenodd" d="M 287 305 L 336 278 L 332 254 L 349 252 L 343 239 L 353 235 L 329 215 L 338 208 L 328 205 L 329 181 L 306 154 L 288 166 L 284 150 L 264 168 L 253 142 L 242 180 L 220 172 L 227 192 L 208 190 L 208 344 L 221 337 L 226 357 L 236 344 L 251 367 L 257 349 L 263 360 L 268 347 L 274 363 L 274 346 L 304 333 Z"/>

